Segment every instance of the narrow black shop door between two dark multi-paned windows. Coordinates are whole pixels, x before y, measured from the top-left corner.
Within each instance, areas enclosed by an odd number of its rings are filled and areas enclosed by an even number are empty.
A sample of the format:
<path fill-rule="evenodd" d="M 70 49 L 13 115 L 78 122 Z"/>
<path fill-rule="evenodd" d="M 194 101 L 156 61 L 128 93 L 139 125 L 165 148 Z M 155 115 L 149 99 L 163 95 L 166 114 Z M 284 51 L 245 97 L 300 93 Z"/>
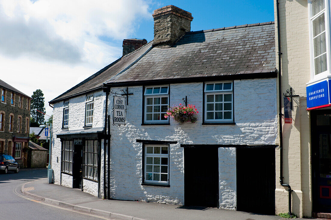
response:
<path fill-rule="evenodd" d="M 83 145 L 73 145 L 73 164 L 72 164 L 72 185 L 73 188 L 82 189 L 83 180 Z"/>

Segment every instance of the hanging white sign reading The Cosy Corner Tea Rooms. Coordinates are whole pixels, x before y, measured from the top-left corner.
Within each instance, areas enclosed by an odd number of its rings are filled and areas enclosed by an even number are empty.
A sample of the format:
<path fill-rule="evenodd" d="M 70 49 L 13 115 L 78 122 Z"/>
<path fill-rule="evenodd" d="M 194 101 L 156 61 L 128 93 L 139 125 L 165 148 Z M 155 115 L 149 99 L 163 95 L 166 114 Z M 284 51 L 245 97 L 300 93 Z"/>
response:
<path fill-rule="evenodd" d="M 126 103 L 125 97 L 113 96 L 113 124 L 125 124 Z"/>

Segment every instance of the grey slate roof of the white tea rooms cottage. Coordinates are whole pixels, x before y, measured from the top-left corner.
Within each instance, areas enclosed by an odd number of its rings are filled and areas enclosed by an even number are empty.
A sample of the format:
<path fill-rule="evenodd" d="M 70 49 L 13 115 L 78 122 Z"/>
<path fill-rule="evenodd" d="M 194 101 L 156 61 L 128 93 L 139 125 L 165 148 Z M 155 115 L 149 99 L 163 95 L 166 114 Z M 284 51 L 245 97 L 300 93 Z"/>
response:
<path fill-rule="evenodd" d="M 106 85 L 275 72 L 274 22 L 187 32 L 171 48 L 153 41 L 50 103 Z M 262 78 L 262 76 L 261 76 Z M 201 79 L 203 81 L 203 79 Z"/>

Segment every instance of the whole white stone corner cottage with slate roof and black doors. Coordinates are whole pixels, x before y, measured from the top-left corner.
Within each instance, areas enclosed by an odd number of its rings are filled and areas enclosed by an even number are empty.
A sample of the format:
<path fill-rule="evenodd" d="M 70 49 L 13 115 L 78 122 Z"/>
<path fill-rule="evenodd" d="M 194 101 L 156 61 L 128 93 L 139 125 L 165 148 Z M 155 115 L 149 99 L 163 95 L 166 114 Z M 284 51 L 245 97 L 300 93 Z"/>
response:
<path fill-rule="evenodd" d="M 55 184 L 273 214 L 274 22 L 190 31 L 191 13 L 175 6 L 153 17 L 153 41 L 50 101 Z M 118 96 L 125 122 L 114 122 Z M 196 123 L 164 117 L 183 100 L 199 111 Z"/>

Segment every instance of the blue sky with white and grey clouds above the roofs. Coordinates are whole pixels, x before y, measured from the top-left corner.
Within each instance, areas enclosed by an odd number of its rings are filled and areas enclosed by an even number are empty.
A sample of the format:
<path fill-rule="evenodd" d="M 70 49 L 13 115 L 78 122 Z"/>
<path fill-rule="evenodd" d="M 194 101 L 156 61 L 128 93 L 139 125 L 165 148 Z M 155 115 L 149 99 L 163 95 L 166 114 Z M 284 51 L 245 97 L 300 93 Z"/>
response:
<path fill-rule="evenodd" d="M 272 0 L 0 0 L 0 79 L 48 102 L 122 55 L 123 39 L 153 40 L 153 11 L 191 12 L 191 31 L 274 21 Z M 45 116 L 47 120 L 48 116 Z"/>

